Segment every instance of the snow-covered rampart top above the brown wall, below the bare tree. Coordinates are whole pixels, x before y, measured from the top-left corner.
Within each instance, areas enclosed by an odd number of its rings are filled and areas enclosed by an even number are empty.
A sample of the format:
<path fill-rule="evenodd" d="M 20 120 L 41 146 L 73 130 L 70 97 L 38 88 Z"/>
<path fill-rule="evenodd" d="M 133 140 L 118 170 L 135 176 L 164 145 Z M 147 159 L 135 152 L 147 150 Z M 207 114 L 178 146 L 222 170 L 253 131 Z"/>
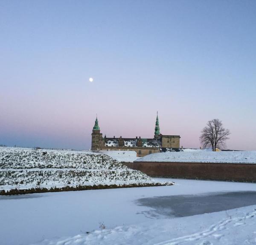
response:
<path fill-rule="evenodd" d="M 136 162 L 256 163 L 256 151 L 184 151 L 154 153 Z"/>

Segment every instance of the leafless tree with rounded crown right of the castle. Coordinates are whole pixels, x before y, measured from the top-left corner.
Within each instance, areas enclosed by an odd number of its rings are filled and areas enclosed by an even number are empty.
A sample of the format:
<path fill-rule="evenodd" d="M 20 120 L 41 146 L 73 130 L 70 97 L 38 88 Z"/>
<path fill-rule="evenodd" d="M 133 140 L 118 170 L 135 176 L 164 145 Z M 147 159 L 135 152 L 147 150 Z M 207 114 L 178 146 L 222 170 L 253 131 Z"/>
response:
<path fill-rule="evenodd" d="M 216 148 L 225 147 L 225 142 L 230 135 L 230 131 L 224 128 L 221 120 L 218 119 L 208 121 L 201 133 L 200 141 L 203 147 L 211 146 L 212 151 L 216 151 Z"/>

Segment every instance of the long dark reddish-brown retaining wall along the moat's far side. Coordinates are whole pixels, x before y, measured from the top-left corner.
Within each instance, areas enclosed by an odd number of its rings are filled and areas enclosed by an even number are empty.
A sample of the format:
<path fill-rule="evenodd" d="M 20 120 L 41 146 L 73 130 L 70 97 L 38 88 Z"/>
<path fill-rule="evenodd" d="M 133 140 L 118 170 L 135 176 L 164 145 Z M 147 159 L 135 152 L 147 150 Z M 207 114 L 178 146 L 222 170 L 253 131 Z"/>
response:
<path fill-rule="evenodd" d="M 256 163 L 127 162 L 151 177 L 256 182 Z"/>

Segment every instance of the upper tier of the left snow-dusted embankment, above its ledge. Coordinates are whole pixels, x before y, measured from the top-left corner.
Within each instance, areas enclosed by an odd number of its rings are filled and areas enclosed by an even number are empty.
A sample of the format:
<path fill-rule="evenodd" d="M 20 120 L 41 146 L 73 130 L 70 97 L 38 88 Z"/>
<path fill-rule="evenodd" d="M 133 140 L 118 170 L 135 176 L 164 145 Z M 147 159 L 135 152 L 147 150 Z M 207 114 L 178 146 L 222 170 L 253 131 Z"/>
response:
<path fill-rule="evenodd" d="M 123 165 L 89 151 L 0 147 L 0 169 L 3 168 L 123 169 Z"/>

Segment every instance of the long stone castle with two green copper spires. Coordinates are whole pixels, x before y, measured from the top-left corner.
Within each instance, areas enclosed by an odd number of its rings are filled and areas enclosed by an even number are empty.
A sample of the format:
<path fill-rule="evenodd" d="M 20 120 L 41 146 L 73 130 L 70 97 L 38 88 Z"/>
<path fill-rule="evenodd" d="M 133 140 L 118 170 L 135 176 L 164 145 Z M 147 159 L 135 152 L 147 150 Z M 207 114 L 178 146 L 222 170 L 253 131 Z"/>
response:
<path fill-rule="evenodd" d="M 155 124 L 154 138 L 142 139 L 136 138 L 103 138 L 100 133 L 98 118 L 96 117 L 92 133 L 92 151 L 136 151 L 138 157 L 144 157 L 151 153 L 165 151 L 166 148 L 180 148 L 179 135 L 163 135 L 160 134 L 158 113 Z"/>

